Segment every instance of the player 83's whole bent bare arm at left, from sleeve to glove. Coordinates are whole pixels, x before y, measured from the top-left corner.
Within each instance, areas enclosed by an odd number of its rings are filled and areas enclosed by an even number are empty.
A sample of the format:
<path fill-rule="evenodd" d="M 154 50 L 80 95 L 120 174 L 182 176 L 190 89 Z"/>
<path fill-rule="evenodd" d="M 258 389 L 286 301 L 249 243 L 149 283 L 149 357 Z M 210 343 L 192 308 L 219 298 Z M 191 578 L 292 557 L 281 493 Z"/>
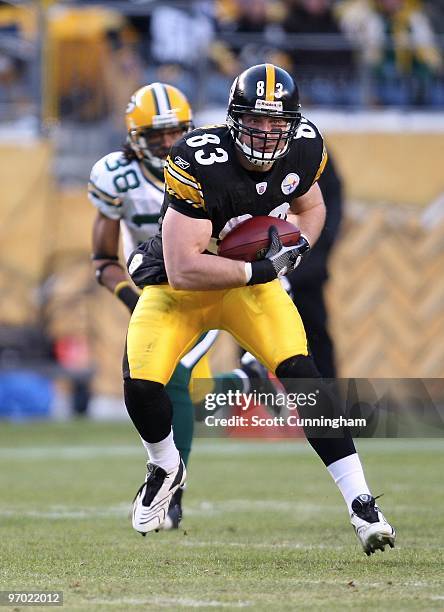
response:
<path fill-rule="evenodd" d="M 244 262 L 203 253 L 211 230 L 210 220 L 187 217 L 168 208 L 162 241 L 168 281 L 174 289 L 228 289 L 246 284 Z"/>

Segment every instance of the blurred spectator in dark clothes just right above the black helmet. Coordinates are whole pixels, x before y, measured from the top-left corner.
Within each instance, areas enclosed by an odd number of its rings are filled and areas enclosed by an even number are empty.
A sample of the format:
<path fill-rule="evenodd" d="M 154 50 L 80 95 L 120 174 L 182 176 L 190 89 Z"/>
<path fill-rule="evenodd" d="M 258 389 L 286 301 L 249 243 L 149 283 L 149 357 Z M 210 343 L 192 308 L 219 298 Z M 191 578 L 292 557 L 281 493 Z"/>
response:
<path fill-rule="evenodd" d="M 290 35 L 286 48 L 305 102 L 358 103 L 353 52 L 341 31 L 333 0 L 286 0 L 285 6 L 282 28 Z"/>

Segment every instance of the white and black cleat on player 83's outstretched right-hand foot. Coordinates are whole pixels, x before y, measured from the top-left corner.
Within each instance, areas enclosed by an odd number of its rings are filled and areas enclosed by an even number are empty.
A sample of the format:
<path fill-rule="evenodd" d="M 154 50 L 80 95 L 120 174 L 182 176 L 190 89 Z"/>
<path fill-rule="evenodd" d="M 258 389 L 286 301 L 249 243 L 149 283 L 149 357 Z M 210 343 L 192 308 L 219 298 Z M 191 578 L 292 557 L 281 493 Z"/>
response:
<path fill-rule="evenodd" d="M 390 548 L 395 546 L 395 530 L 375 505 L 374 497 L 358 495 L 352 502 L 352 510 L 351 523 L 366 555 L 378 549 L 384 551 L 386 544 Z"/>

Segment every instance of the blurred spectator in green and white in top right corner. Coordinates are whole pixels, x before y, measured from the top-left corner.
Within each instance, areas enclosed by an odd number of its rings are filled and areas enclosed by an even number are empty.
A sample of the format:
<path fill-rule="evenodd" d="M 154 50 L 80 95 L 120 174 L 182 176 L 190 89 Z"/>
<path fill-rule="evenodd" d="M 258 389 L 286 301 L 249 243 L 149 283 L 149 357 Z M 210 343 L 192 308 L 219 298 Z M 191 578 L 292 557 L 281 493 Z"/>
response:
<path fill-rule="evenodd" d="M 370 68 L 376 104 L 444 102 L 442 58 L 418 0 L 355 0 L 341 23 Z"/>

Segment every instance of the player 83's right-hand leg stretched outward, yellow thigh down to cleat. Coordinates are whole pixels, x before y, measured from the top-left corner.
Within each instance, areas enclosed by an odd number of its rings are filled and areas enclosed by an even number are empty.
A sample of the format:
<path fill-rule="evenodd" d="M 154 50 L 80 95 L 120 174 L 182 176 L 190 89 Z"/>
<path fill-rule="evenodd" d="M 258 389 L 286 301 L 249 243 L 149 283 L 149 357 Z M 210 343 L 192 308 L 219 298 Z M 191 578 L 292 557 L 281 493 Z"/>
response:
<path fill-rule="evenodd" d="M 301 418 L 325 417 L 332 411 L 339 416 L 337 403 L 308 355 L 301 318 L 280 283 L 258 285 L 251 292 L 248 289 L 233 290 L 227 296 L 226 329 L 276 372 L 287 393 L 316 394 L 315 406 L 298 406 Z M 304 379 L 303 389 L 298 379 Z M 393 546 L 395 532 L 375 506 L 349 429 L 325 426 L 322 432 L 311 427 L 304 427 L 304 431 L 341 491 L 365 552 L 383 550 L 385 544 Z"/>

